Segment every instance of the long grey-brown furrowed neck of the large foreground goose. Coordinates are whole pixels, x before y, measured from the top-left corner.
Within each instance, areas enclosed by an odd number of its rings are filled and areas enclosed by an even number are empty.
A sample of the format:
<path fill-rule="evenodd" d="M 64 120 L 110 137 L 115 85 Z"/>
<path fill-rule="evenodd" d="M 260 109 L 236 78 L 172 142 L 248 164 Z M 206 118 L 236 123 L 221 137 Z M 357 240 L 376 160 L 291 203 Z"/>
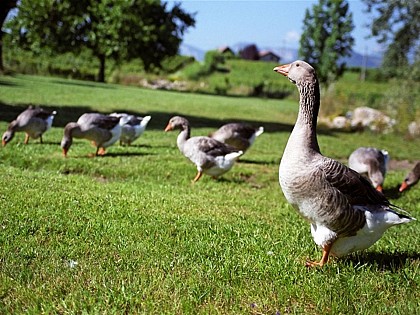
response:
<path fill-rule="evenodd" d="M 300 138 L 305 145 L 320 152 L 316 138 L 316 125 L 320 106 L 318 82 L 298 85 L 300 93 L 299 114 L 294 132 L 302 133 Z"/>

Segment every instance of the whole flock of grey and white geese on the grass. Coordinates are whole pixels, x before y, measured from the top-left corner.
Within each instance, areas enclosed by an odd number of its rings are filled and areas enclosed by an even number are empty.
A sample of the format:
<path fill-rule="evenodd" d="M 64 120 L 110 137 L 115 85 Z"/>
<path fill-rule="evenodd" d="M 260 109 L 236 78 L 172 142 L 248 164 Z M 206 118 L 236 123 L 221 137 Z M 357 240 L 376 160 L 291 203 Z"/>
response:
<path fill-rule="evenodd" d="M 330 256 L 341 257 L 364 250 L 391 226 L 415 220 L 404 210 L 392 205 L 382 194 L 389 161 L 385 150 L 357 148 L 348 160 L 348 167 L 321 154 L 317 139 L 317 117 L 320 108 L 319 83 L 314 68 L 297 60 L 274 68 L 296 85 L 299 112 L 287 141 L 279 167 L 279 183 L 286 200 L 310 223 L 314 242 L 322 249 L 319 261 L 308 261 L 308 267 L 323 266 Z M 40 138 L 53 123 L 55 111 L 28 107 L 13 120 L 2 137 L 5 146 L 16 132 Z M 85 113 L 76 122 L 64 127 L 61 148 L 68 156 L 73 138 L 90 140 L 95 156 L 104 155 L 106 148 L 120 141 L 131 145 L 146 130 L 151 116 L 127 113 Z M 219 177 L 252 146 L 264 128 L 245 123 L 228 123 L 208 136 L 191 137 L 191 126 L 185 117 L 174 116 L 165 132 L 179 130 L 179 151 L 197 168 L 192 180 L 203 174 Z M 420 179 L 420 162 L 406 176 L 400 192 Z"/>

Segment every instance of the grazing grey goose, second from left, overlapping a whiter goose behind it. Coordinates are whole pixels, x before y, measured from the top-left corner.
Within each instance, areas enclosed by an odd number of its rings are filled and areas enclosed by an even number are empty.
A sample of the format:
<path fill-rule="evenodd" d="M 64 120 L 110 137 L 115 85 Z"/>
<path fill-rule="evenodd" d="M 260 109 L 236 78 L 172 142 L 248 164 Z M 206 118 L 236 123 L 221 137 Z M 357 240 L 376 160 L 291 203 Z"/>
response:
<path fill-rule="evenodd" d="M 95 156 L 104 155 L 105 148 L 113 145 L 121 135 L 121 126 L 126 122 L 123 118 L 99 113 L 85 113 L 77 122 L 69 122 L 64 127 L 61 148 L 64 157 L 73 143 L 73 138 L 88 139 L 96 146 Z"/>

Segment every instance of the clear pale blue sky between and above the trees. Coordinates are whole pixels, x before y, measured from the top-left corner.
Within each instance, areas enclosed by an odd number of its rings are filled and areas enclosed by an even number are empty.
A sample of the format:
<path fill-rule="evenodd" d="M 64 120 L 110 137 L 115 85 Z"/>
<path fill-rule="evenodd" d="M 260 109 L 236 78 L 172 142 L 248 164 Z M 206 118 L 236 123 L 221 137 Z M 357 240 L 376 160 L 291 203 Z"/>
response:
<path fill-rule="evenodd" d="M 305 10 L 318 3 L 313 0 L 187 0 L 180 2 L 188 13 L 196 12 L 196 25 L 184 34 L 184 44 L 203 50 L 254 43 L 259 48 L 298 48 Z M 371 15 L 364 13 L 361 0 L 349 0 L 353 14 L 353 49 L 359 53 L 376 53 L 380 46 L 375 39 L 366 39 L 365 25 Z"/>

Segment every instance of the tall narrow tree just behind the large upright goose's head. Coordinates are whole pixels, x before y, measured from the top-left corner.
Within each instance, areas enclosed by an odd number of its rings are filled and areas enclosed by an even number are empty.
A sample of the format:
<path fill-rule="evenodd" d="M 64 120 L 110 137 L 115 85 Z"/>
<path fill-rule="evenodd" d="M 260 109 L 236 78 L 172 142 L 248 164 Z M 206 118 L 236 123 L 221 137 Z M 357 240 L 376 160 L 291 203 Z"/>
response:
<path fill-rule="evenodd" d="M 349 56 L 354 44 L 352 19 L 345 0 L 319 0 L 306 9 L 299 55 L 314 66 L 321 83 L 328 85 L 344 71 L 339 59 Z"/>

